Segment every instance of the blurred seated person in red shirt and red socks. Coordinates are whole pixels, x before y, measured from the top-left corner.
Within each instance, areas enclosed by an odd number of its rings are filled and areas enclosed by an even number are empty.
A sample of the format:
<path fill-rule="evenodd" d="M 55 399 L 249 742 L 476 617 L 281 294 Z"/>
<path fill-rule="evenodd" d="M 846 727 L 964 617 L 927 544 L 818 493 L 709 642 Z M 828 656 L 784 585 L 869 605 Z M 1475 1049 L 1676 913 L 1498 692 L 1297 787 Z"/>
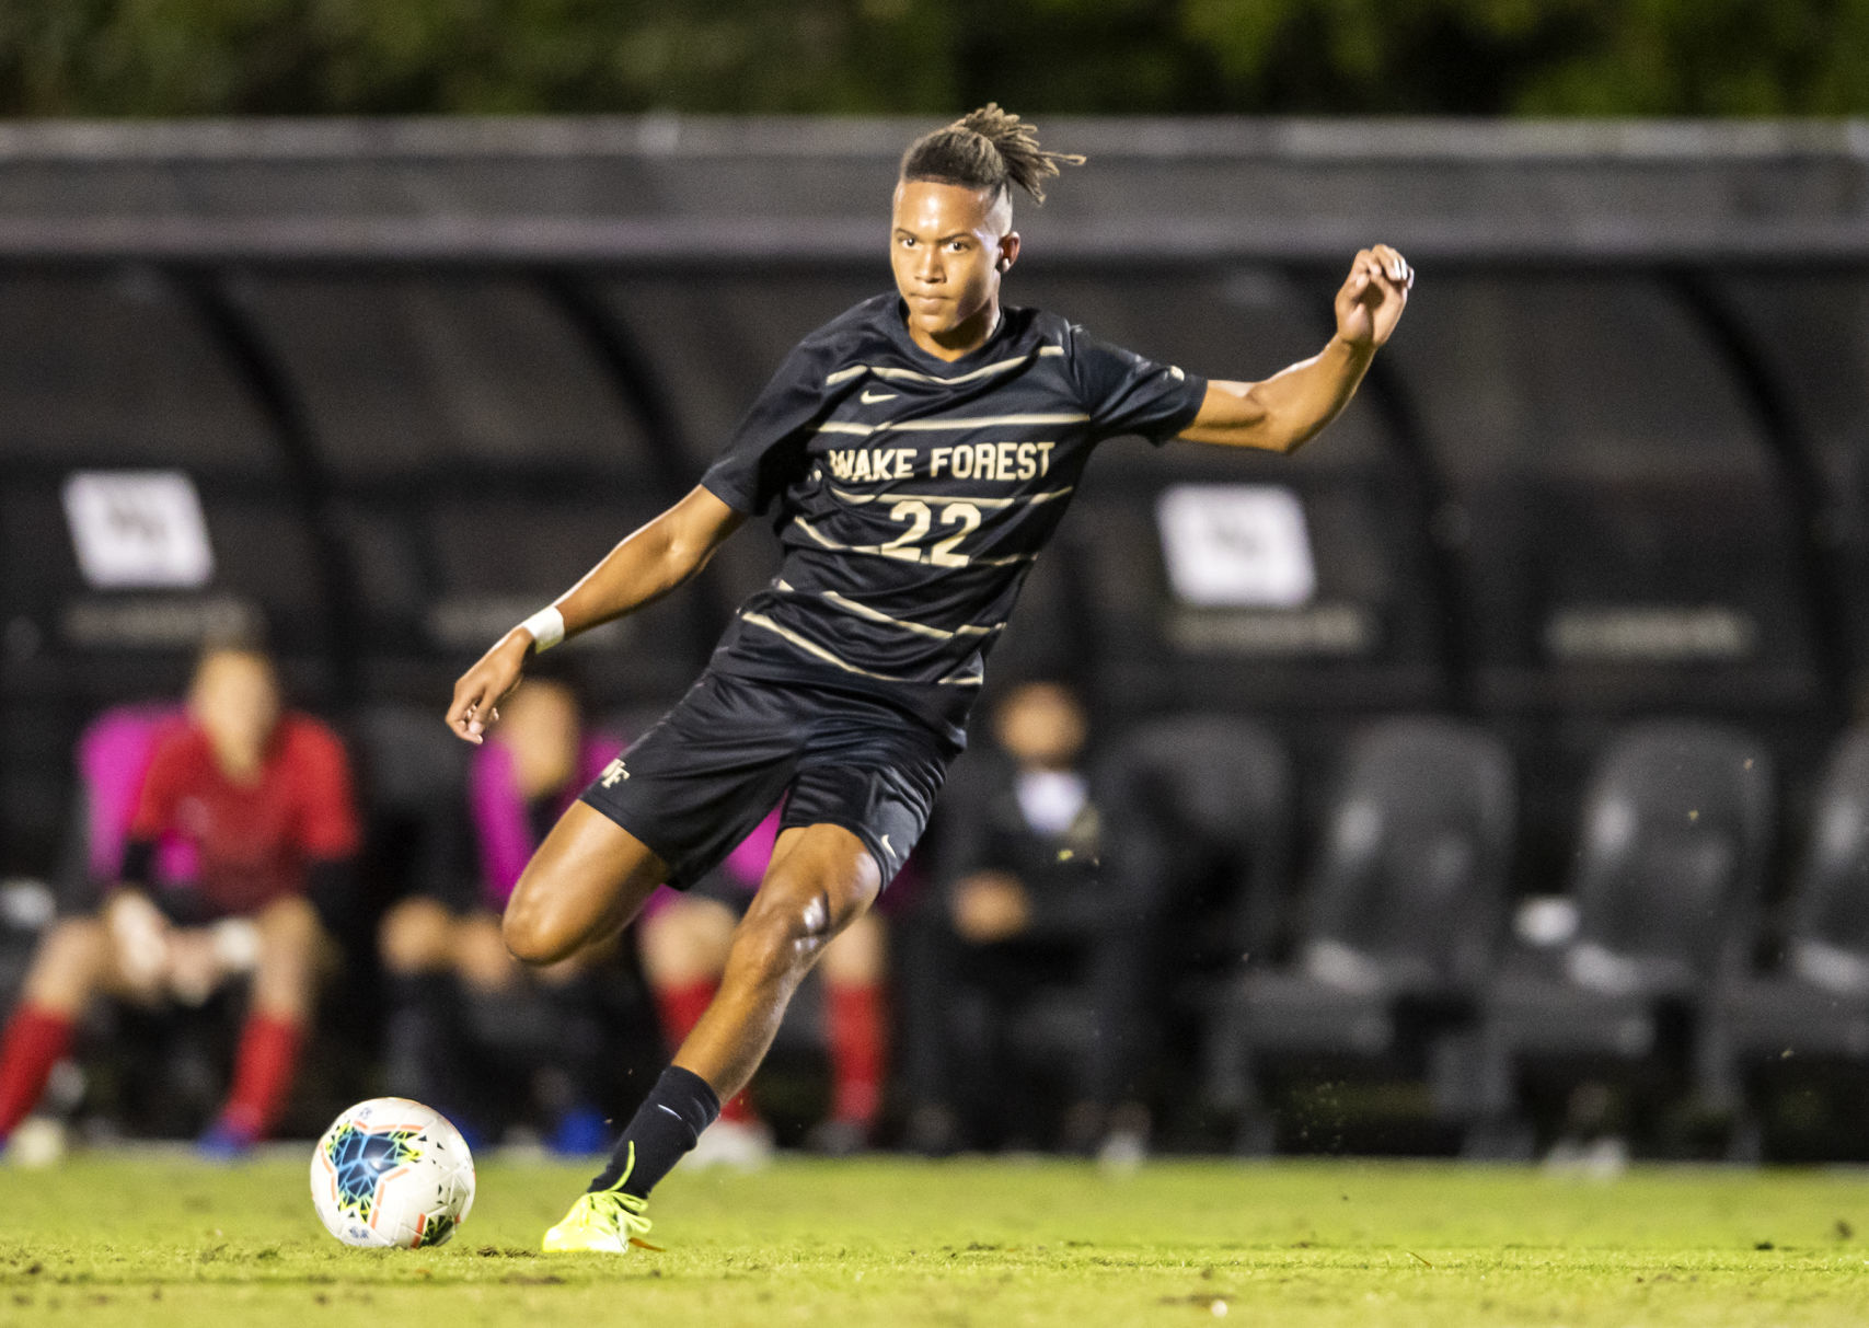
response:
<path fill-rule="evenodd" d="M 166 839 L 194 850 L 193 882 L 157 883 Z M 200 1147 L 237 1156 L 265 1137 L 336 954 L 320 906 L 329 913 L 346 895 L 357 846 L 336 734 L 284 710 L 264 652 L 206 650 L 187 721 L 150 758 L 114 889 L 95 913 L 58 921 L 34 956 L 0 1040 L 0 1145 L 32 1111 L 92 997 L 198 1005 L 243 975 L 234 1081 Z"/>

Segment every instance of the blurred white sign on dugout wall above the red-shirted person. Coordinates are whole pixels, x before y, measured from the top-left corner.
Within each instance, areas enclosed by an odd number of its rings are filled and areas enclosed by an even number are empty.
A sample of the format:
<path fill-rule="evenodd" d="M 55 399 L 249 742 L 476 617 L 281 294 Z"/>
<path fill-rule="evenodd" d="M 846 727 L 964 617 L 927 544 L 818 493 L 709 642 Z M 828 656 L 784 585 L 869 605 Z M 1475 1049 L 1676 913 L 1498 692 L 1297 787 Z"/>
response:
<path fill-rule="evenodd" d="M 198 590 L 215 575 L 202 501 L 181 471 L 77 471 L 65 525 L 97 590 Z"/>

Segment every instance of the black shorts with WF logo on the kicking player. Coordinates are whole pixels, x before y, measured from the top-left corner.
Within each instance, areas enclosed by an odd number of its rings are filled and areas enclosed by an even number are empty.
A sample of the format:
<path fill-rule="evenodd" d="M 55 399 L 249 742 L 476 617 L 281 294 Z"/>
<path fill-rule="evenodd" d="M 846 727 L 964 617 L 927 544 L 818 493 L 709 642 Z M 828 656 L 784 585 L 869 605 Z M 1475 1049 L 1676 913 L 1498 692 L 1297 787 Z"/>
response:
<path fill-rule="evenodd" d="M 675 889 L 714 870 L 781 798 L 781 831 L 843 826 L 888 885 L 959 755 L 880 697 L 710 669 L 583 801 L 667 863 Z"/>

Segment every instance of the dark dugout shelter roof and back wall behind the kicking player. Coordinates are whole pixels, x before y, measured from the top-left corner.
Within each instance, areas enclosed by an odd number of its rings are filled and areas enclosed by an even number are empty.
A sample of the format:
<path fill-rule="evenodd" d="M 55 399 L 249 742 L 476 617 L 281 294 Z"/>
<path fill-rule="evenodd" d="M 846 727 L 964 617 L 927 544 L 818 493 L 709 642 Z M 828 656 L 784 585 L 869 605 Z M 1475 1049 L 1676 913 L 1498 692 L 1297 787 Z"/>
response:
<path fill-rule="evenodd" d="M 230 620 L 269 624 L 312 704 L 435 710 L 486 641 L 693 484 L 802 332 L 886 286 L 882 207 L 918 127 L 0 129 L 0 870 L 52 869 L 84 719 L 174 695 Z M 1585 755 L 1628 717 L 1738 719 L 1796 784 L 1854 713 L 1854 125 L 1047 129 L 1091 164 L 1020 213 L 1015 301 L 1250 377 L 1321 344 L 1357 245 L 1400 245 L 1420 288 L 1299 459 L 1112 445 L 1002 674 L 1067 661 L 1116 727 L 1232 710 L 1310 753 L 1374 713 L 1469 713 L 1516 743 L 1551 852 Z M 136 467 L 200 489 L 207 588 L 80 577 L 65 478 Z M 1155 502 L 1181 482 L 1295 491 L 1316 598 L 1179 603 Z M 600 704 L 671 697 L 766 568 L 748 532 L 585 646 Z"/>

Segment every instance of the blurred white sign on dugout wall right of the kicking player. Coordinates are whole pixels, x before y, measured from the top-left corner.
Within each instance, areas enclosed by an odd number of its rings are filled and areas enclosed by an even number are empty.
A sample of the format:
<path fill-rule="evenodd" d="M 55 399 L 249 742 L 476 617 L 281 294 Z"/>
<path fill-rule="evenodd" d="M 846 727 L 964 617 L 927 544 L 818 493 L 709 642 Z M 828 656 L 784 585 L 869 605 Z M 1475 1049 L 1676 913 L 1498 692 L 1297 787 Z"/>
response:
<path fill-rule="evenodd" d="M 1271 484 L 1177 484 L 1155 502 L 1168 583 L 1200 607 L 1297 609 L 1318 594 L 1305 504 Z"/>

